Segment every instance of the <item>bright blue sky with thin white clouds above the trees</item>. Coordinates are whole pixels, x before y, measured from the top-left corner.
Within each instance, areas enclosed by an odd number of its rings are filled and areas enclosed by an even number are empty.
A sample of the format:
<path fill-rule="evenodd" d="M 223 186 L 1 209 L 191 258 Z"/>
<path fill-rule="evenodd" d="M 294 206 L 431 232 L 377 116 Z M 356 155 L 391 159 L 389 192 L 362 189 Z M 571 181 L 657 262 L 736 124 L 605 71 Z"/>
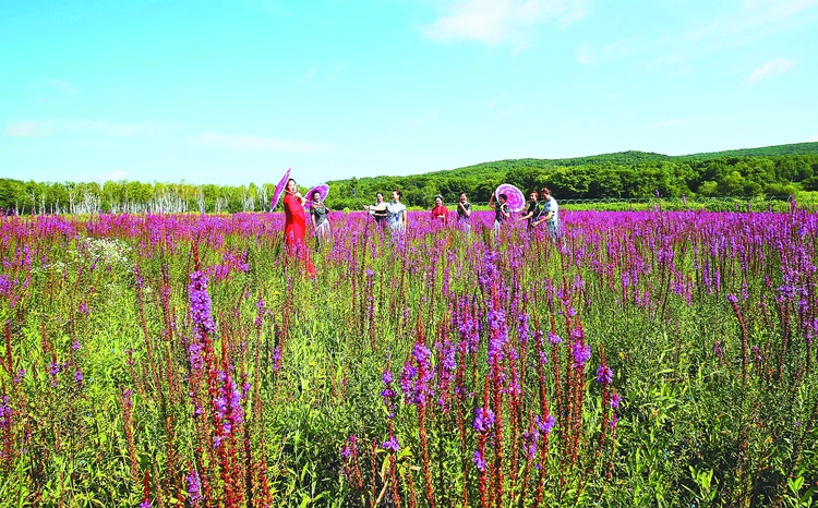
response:
<path fill-rule="evenodd" d="M 5 1 L 0 177 L 240 185 L 818 141 L 818 0 Z"/>

